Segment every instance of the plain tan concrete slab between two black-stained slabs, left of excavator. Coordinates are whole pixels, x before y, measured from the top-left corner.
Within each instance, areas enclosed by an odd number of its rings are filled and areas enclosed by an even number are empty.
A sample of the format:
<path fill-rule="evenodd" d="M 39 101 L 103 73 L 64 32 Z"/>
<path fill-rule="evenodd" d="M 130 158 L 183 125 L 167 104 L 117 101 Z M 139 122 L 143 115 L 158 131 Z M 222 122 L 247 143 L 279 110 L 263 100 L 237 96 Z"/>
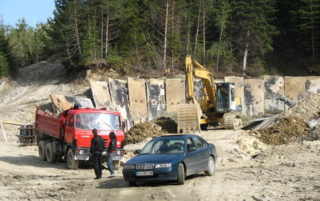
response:
<path fill-rule="evenodd" d="M 148 108 L 145 80 L 128 78 L 128 93 L 132 120 L 146 119 L 148 117 Z"/>

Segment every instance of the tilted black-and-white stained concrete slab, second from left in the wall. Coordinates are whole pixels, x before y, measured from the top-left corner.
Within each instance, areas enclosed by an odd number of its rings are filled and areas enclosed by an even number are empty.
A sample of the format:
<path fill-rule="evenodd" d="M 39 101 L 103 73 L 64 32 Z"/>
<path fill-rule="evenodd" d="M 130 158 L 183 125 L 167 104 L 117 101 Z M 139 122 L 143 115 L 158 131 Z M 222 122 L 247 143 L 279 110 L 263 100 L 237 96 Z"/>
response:
<path fill-rule="evenodd" d="M 131 119 L 128 99 L 128 89 L 126 80 L 108 78 L 109 90 L 113 108 L 121 113 L 122 118 Z"/>

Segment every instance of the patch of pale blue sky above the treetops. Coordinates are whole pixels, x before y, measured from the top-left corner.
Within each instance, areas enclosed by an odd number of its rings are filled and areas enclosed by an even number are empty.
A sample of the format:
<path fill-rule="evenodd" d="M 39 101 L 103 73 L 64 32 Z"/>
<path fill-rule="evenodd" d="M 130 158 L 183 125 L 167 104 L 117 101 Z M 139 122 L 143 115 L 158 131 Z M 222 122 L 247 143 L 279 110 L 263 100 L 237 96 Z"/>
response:
<path fill-rule="evenodd" d="M 54 8 L 54 0 L 0 0 L 0 18 L 5 25 L 16 25 L 18 19 L 24 18 L 35 27 L 37 22 L 47 22 Z"/>

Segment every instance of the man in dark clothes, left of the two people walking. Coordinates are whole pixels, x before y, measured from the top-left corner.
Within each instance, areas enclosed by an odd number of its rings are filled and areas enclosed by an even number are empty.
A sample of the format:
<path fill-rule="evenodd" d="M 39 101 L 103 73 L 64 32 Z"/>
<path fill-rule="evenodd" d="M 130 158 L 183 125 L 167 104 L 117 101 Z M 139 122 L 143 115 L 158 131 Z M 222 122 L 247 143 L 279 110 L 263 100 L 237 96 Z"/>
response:
<path fill-rule="evenodd" d="M 95 169 L 95 179 L 102 178 L 102 152 L 104 150 L 104 139 L 98 135 L 98 130 L 93 129 L 92 133 L 94 135 L 91 139 L 90 152 L 92 154 L 93 169 Z"/>

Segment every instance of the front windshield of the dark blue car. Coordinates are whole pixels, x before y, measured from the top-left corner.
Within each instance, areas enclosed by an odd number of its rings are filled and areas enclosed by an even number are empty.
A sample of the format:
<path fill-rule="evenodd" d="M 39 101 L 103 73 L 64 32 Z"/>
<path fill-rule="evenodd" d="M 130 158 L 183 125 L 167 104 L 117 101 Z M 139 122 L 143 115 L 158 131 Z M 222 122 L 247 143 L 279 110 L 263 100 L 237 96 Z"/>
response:
<path fill-rule="evenodd" d="M 179 154 L 184 151 L 184 139 L 156 139 L 148 142 L 140 154 Z"/>

